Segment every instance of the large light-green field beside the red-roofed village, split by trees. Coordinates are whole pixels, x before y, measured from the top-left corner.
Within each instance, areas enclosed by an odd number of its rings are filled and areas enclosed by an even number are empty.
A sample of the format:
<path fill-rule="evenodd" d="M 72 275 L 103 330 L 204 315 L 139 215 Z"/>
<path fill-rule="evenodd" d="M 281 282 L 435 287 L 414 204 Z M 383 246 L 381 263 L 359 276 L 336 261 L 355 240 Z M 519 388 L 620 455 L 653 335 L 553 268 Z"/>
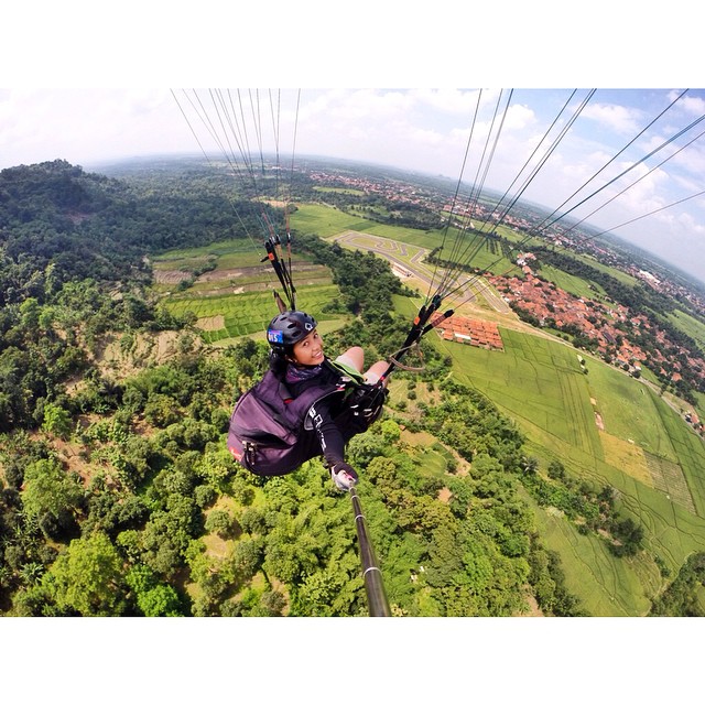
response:
<path fill-rule="evenodd" d="M 558 459 L 578 478 L 611 485 L 621 511 L 643 524 L 650 551 L 674 573 L 687 555 L 704 551 L 705 446 L 679 414 L 601 361 L 588 358 L 583 373 L 576 351 L 558 341 L 507 329 L 501 335 L 503 352 L 435 345 L 452 356 L 458 381 L 516 420 L 543 467 Z M 652 561 L 617 560 L 550 512 L 538 509 L 538 521 L 562 556 L 572 590 L 586 605 L 597 600 L 592 614 L 643 614 L 655 589 Z"/>

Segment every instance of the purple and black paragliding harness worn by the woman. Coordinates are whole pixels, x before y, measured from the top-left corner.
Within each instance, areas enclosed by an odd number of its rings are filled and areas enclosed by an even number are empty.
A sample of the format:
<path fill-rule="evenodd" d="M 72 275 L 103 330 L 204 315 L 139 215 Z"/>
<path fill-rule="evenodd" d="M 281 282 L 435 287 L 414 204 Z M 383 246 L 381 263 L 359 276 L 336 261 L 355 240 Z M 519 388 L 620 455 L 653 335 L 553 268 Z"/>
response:
<path fill-rule="evenodd" d="M 382 412 L 387 390 L 326 360 L 332 381 L 293 398 L 272 370 L 238 400 L 230 416 L 228 449 L 245 468 L 261 476 L 285 475 L 321 455 L 315 433 L 322 422 L 316 404 L 332 400 L 332 416 L 345 441 L 364 433 Z"/>

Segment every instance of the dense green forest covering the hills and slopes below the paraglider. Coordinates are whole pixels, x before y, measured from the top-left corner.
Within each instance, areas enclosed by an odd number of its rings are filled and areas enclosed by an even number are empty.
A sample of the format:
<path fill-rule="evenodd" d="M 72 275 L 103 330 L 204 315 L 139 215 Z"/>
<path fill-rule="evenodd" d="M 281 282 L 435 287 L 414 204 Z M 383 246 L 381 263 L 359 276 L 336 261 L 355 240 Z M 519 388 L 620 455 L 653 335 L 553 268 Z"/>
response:
<path fill-rule="evenodd" d="M 0 172 L 0 614 L 368 614 L 350 503 L 321 462 L 263 480 L 227 451 L 267 345 L 205 343 L 153 288 L 150 257 L 248 237 L 257 212 L 230 189 L 199 165 Z M 411 292 L 389 265 L 294 235 L 348 321 L 325 335 L 327 355 L 397 349 L 409 321 L 394 301 Z M 386 413 L 348 452 L 392 614 L 588 616 L 533 507 L 560 509 L 619 560 L 643 550 L 644 528 L 609 486 L 539 468 L 517 425 L 422 350 L 423 371 L 394 375 Z M 650 614 L 705 614 L 702 554 L 665 577 Z"/>

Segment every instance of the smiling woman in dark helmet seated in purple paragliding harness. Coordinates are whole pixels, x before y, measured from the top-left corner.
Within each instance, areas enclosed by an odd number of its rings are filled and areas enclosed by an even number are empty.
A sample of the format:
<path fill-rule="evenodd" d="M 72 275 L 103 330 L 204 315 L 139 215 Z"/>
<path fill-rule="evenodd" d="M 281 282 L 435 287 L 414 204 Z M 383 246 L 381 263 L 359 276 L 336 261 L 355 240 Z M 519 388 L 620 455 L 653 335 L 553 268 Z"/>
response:
<path fill-rule="evenodd" d="M 316 321 L 302 311 L 272 318 L 267 339 L 270 369 L 235 406 L 230 453 L 261 476 L 286 475 L 323 456 L 336 487 L 350 489 L 358 478 L 345 460 L 345 446 L 379 417 L 388 393 L 387 362 L 364 372 L 360 347 L 330 360 Z"/>

